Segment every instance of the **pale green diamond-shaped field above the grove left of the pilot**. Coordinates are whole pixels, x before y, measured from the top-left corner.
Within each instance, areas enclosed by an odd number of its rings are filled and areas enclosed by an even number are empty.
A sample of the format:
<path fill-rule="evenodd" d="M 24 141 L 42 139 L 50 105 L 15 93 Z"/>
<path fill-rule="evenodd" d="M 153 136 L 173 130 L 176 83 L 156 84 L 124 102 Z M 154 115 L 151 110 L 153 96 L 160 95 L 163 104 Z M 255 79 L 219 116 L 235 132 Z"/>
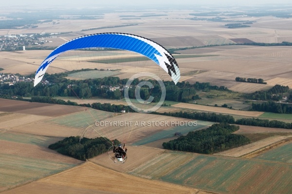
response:
<path fill-rule="evenodd" d="M 102 121 L 103 119 L 108 118 L 112 115 L 113 113 L 110 112 L 88 109 L 87 111 L 84 112 L 60 116 L 57 118 L 47 120 L 45 122 L 55 125 L 85 129 L 90 125 L 94 124 L 95 121 Z"/>

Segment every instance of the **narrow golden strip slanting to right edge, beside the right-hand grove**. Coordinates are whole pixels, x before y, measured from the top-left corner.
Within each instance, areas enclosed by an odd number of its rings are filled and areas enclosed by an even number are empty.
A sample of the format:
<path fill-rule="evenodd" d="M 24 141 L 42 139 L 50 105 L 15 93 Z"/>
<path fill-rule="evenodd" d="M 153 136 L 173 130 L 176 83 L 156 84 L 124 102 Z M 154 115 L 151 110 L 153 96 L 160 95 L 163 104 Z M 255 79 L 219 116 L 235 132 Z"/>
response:
<path fill-rule="evenodd" d="M 244 146 L 240 146 L 240 147 L 236 147 L 233 149 L 229 149 L 223 152 L 219 152 L 216 153 L 214 155 L 220 155 L 220 156 L 229 156 L 229 157 L 242 157 L 244 155 L 247 155 L 251 152 L 255 152 L 256 150 L 259 150 L 261 148 L 264 148 L 266 146 L 270 146 L 272 144 L 275 144 L 277 142 L 281 142 L 285 139 L 289 139 L 291 138 L 292 135 L 289 136 L 273 136 L 273 137 L 268 137 L 266 139 L 248 144 L 248 145 L 244 145 Z"/>

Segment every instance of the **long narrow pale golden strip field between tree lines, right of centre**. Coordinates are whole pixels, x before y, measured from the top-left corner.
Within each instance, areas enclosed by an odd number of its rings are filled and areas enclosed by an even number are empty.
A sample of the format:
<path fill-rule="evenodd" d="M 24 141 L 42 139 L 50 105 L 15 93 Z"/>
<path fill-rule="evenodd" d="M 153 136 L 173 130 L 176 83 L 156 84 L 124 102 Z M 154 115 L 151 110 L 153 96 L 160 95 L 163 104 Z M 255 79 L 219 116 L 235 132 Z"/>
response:
<path fill-rule="evenodd" d="M 224 114 L 236 114 L 236 115 L 241 115 L 241 116 L 259 116 L 262 113 L 264 113 L 264 112 L 256 112 L 256 111 L 238 111 L 238 110 L 222 108 L 222 107 L 211 107 L 211 106 L 189 104 L 189 103 L 178 103 L 172 106 L 177 107 L 177 108 L 183 108 L 183 109 L 193 109 L 193 110 L 198 110 L 198 111 L 224 113 Z"/>

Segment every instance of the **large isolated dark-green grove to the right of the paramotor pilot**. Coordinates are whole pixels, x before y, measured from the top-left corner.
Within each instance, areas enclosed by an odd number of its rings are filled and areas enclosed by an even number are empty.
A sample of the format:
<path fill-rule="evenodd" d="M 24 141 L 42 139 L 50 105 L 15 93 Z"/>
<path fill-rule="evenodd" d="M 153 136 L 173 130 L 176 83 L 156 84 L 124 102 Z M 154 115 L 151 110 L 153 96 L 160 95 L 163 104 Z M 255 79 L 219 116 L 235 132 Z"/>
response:
<path fill-rule="evenodd" d="M 232 132 L 239 126 L 228 123 L 213 124 L 207 129 L 191 131 L 186 136 L 163 143 L 164 149 L 213 154 L 227 149 L 249 144 L 251 141 Z"/>

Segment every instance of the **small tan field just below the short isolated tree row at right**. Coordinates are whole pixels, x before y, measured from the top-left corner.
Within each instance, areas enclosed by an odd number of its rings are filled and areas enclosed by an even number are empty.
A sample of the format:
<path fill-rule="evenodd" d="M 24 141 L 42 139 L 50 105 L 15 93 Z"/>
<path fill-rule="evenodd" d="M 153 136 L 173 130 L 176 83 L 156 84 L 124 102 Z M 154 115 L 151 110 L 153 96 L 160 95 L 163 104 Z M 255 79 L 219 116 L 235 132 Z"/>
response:
<path fill-rule="evenodd" d="M 234 92 L 241 92 L 241 93 L 254 93 L 256 91 L 260 90 L 268 90 L 272 86 L 267 84 L 256 84 L 256 83 L 238 83 L 230 88 L 229 90 L 232 90 Z"/>

